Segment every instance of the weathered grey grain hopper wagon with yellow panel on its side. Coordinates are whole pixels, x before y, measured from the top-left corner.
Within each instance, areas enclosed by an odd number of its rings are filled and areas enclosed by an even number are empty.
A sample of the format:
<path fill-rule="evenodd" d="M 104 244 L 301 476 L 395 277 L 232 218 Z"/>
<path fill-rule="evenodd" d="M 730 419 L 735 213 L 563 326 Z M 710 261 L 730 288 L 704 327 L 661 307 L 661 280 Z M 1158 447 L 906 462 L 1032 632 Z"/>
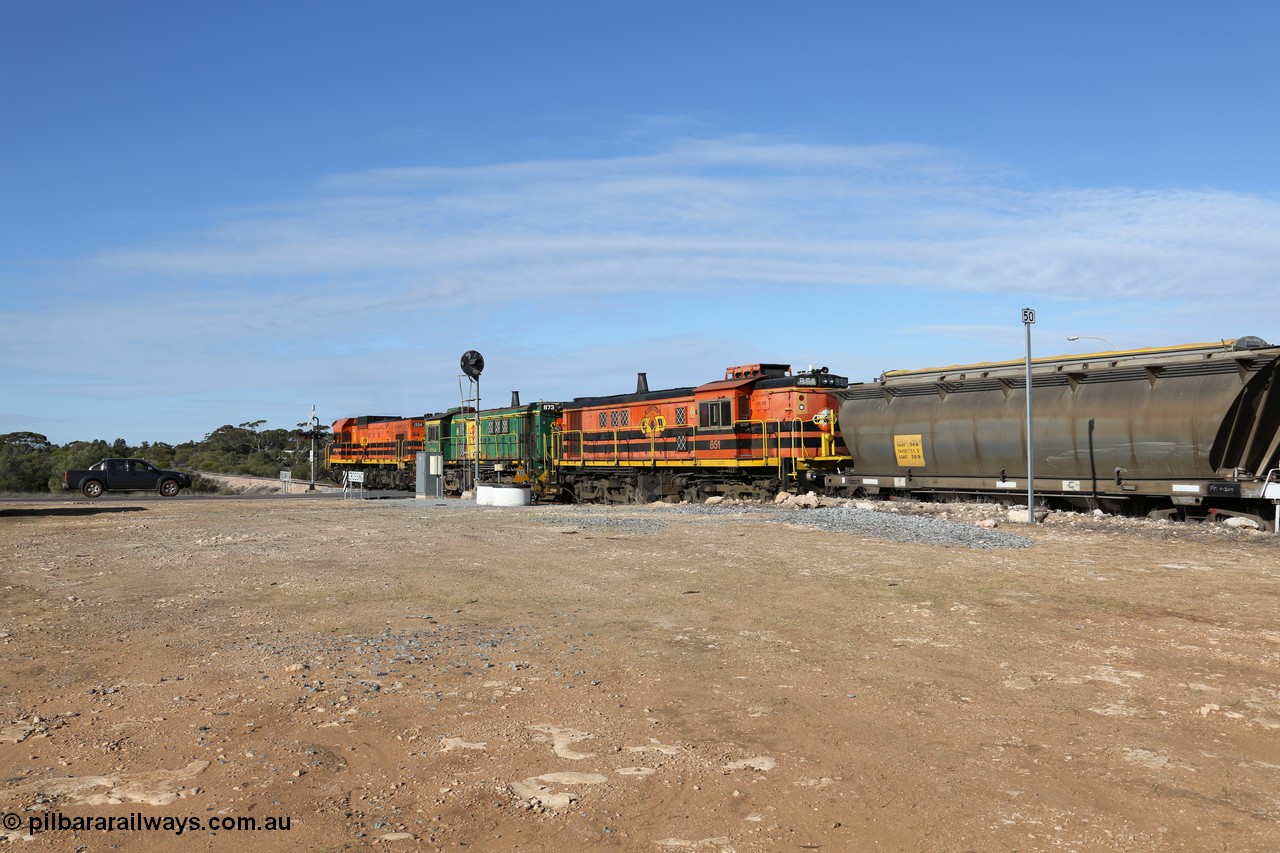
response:
<path fill-rule="evenodd" d="M 1258 338 L 1033 361 L 1037 492 L 1260 497 L 1277 361 Z M 1025 491 L 1025 394 L 1021 361 L 892 371 L 837 392 L 840 429 L 870 492 Z"/>

